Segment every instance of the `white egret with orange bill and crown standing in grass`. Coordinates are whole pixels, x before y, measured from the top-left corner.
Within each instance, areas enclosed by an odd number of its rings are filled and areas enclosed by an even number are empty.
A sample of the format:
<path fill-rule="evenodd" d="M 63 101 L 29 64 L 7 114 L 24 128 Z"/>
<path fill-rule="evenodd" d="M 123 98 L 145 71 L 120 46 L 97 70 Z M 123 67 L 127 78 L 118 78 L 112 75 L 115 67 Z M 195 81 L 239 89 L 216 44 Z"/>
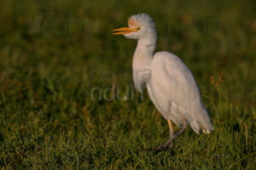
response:
<path fill-rule="evenodd" d="M 170 139 L 157 149 L 172 144 L 190 125 L 195 133 L 211 133 L 210 116 L 189 68 L 175 54 L 161 51 L 154 54 L 157 33 L 154 21 L 148 14 L 132 15 L 128 26 L 114 29 L 113 35 L 137 39 L 132 71 L 136 89 L 142 93 L 145 86 L 155 107 L 166 118 Z M 181 129 L 174 133 L 172 122 Z"/>

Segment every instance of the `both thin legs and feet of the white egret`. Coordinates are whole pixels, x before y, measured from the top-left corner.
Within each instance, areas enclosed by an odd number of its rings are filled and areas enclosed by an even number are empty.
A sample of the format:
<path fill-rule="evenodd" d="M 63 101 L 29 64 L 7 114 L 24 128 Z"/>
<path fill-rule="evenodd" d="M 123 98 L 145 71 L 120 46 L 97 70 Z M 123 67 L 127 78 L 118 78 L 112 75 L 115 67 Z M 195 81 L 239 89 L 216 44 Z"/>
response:
<path fill-rule="evenodd" d="M 172 141 L 173 141 L 174 139 L 177 139 L 177 136 L 180 135 L 181 133 L 183 133 L 183 131 L 188 127 L 187 121 L 186 121 L 186 120 L 183 120 L 183 127 L 182 127 L 176 134 L 174 134 L 173 128 L 172 128 L 172 122 L 171 122 L 171 120 L 167 119 L 167 122 L 168 122 L 169 127 L 170 127 L 170 137 L 171 137 L 171 139 L 167 140 L 166 144 L 160 145 L 160 146 L 158 146 L 157 148 L 155 148 L 155 149 L 157 149 L 157 150 L 165 149 L 166 146 L 168 146 L 169 144 L 172 144 L 172 145 L 171 145 L 171 147 L 172 147 L 172 146 L 173 146 Z"/>

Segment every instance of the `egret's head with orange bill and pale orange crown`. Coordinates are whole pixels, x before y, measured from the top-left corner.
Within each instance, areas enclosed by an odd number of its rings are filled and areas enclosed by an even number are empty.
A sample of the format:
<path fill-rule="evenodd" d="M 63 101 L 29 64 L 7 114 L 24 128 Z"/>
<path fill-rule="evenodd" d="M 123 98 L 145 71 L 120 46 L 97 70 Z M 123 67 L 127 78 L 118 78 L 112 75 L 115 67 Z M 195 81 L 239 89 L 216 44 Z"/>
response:
<path fill-rule="evenodd" d="M 114 29 L 113 35 L 124 35 L 132 39 L 156 38 L 154 21 L 148 14 L 134 14 L 128 19 L 128 26 Z"/>

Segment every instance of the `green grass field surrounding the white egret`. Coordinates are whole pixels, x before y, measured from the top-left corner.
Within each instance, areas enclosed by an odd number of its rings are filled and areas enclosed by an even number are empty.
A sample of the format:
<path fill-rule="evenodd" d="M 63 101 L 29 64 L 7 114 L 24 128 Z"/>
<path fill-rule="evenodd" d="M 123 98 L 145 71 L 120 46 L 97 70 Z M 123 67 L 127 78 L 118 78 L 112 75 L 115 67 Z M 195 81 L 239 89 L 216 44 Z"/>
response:
<path fill-rule="evenodd" d="M 255 8 L 253 0 L 1 1 L 0 168 L 256 169 Z M 189 127 L 172 150 L 143 150 L 166 142 L 168 124 L 133 88 L 137 41 L 111 35 L 138 13 L 155 21 L 156 50 L 194 73 L 211 134 Z"/>

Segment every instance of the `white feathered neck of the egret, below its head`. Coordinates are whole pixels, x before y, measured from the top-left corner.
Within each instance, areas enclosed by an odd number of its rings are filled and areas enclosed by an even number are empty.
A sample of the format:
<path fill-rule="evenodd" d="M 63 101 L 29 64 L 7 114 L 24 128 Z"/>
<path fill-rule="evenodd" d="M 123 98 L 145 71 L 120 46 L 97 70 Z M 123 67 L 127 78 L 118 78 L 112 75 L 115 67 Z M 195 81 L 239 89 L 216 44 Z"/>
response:
<path fill-rule="evenodd" d="M 148 82 L 151 77 L 150 66 L 153 60 L 155 42 L 156 38 L 140 39 L 137 42 L 137 48 L 132 61 L 132 71 L 133 81 L 139 92 L 143 91 L 144 83 Z"/>

